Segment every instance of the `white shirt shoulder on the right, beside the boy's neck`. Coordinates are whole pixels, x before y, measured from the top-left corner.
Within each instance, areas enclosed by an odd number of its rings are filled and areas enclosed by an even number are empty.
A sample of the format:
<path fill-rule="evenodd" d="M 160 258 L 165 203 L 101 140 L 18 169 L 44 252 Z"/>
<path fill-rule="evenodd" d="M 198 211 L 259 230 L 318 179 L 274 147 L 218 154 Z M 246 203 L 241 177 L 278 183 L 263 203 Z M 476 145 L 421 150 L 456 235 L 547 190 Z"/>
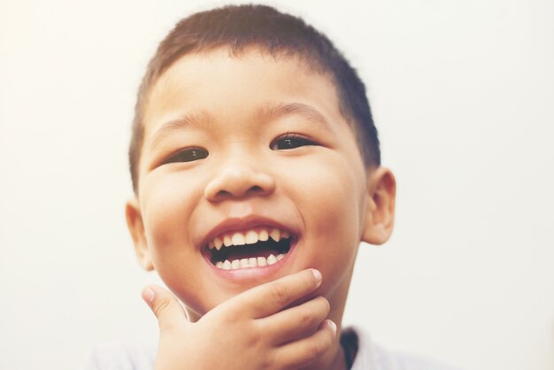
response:
<path fill-rule="evenodd" d="M 358 328 L 348 328 L 346 332 L 354 333 L 358 338 L 358 353 L 351 370 L 458 370 L 430 358 L 390 351 L 373 343 L 369 335 Z"/>

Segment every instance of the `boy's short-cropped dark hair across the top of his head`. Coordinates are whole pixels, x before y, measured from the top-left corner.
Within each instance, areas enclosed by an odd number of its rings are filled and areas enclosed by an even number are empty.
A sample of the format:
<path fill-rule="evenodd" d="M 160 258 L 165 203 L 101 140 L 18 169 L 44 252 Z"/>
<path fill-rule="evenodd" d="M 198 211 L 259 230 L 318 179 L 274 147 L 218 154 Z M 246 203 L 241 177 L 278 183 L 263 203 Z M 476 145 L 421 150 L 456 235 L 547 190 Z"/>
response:
<path fill-rule="evenodd" d="M 138 191 L 138 166 L 144 136 L 143 114 L 150 89 L 159 76 L 182 56 L 227 46 L 231 55 L 256 47 L 273 56 L 304 58 L 312 69 L 329 75 L 335 83 L 339 108 L 357 134 L 365 166 L 381 165 L 377 128 L 365 95 L 364 82 L 326 35 L 303 19 L 266 5 L 229 5 L 197 12 L 181 19 L 160 42 L 142 79 L 135 104 L 129 146 L 133 189 Z"/>

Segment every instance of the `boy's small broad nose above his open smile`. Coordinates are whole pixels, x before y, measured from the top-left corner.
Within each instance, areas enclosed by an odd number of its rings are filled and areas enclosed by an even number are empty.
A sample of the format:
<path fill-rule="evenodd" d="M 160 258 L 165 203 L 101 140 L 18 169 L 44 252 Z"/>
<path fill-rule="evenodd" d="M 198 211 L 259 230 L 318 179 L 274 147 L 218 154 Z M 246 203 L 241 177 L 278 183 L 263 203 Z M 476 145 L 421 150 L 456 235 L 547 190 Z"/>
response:
<path fill-rule="evenodd" d="M 275 181 L 271 175 L 248 164 L 235 163 L 225 166 L 208 182 L 204 197 L 211 202 L 219 202 L 228 198 L 265 197 L 274 190 Z"/>

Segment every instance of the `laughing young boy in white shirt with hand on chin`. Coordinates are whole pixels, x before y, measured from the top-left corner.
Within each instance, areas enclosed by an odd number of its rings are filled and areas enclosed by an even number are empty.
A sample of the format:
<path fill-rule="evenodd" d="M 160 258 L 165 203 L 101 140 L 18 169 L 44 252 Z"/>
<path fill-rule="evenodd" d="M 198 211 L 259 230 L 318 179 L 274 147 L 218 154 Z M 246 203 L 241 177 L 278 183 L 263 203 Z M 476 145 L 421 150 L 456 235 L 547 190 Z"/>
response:
<path fill-rule="evenodd" d="M 363 82 L 301 19 L 243 5 L 181 20 L 142 81 L 129 157 L 135 250 L 174 295 L 142 291 L 156 369 L 442 368 L 342 330 L 358 244 L 389 239 L 396 182 Z M 152 368 L 122 351 L 92 367 Z"/>

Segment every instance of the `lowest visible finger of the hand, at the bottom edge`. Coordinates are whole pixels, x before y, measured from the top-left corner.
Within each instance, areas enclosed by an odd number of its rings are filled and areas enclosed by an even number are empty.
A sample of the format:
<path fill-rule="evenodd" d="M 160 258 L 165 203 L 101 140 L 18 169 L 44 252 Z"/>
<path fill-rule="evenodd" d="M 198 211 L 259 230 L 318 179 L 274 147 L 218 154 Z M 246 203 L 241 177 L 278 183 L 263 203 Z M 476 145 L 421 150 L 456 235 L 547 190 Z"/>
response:
<path fill-rule="evenodd" d="M 335 323 L 325 320 L 311 336 L 281 346 L 275 352 L 275 364 L 286 368 L 306 366 L 329 350 L 335 337 Z"/>

